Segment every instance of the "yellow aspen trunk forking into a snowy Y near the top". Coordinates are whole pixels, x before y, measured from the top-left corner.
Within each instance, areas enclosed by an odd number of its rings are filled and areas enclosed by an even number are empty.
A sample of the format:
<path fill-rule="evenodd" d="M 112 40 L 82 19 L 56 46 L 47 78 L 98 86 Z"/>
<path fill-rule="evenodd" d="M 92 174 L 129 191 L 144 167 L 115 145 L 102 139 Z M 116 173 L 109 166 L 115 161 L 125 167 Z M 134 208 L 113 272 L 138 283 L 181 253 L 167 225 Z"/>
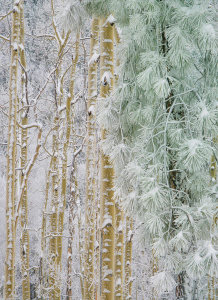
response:
<path fill-rule="evenodd" d="M 60 85 L 59 93 L 55 94 L 55 106 L 56 113 L 54 119 L 54 130 L 53 130 L 53 157 L 51 158 L 51 174 L 52 174 L 52 201 L 51 201 L 51 216 L 50 216 L 50 243 L 49 243 L 49 298 L 50 299 L 60 299 L 61 298 L 61 257 L 62 257 L 62 232 L 63 232 L 63 221 L 64 221 L 64 205 L 66 202 L 66 174 L 67 174 L 67 148 L 69 141 L 66 140 L 63 146 L 63 168 L 62 168 L 62 178 L 60 179 L 59 172 L 59 163 L 60 163 L 60 140 L 61 132 L 60 126 L 61 122 L 61 113 L 59 107 L 62 105 L 63 101 L 63 77 L 61 78 L 61 67 L 63 62 L 64 49 L 67 45 L 70 32 L 66 35 L 63 32 L 62 37 L 58 32 L 58 28 L 55 24 L 55 12 L 54 12 L 54 1 L 51 0 L 51 9 L 52 9 L 52 25 L 54 29 L 54 34 L 56 40 L 58 41 L 58 57 L 57 62 L 58 66 L 55 72 L 55 77 L 57 80 L 57 85 Z M 72 84 L 72 82 L 70 83 Z M 66 115 L 67 120 L 67 133 L 69 133 L 69 103 L 72 100 L 72 96 L 68 96 L 66 103 Z M 65 162 L 66 160 L 66 162 Z M 59 183 L 61 182 L 61 188 Z M 61 191 L 60 191 L 61 190 Z M 61 204 L 59 203 L 61 197 Z"/>

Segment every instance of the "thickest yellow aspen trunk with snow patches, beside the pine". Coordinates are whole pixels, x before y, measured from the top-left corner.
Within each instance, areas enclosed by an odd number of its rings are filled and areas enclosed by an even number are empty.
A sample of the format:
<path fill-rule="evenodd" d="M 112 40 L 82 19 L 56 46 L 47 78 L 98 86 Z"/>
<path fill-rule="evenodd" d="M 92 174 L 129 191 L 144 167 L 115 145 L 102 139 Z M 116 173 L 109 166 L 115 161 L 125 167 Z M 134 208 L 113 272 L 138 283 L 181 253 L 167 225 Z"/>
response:
<path fill-rule="evenodd" d="M 112 17 L 101 19 L 100 34 L 100 96 L 106 98 L 114 86 L 114 30 Z M 102 140 L 106 131 L 102 129 Z M 115 204 L 114 170 L 109 157 L 101 153 L 100 191 L 100 299 L 114 298 Z"/>

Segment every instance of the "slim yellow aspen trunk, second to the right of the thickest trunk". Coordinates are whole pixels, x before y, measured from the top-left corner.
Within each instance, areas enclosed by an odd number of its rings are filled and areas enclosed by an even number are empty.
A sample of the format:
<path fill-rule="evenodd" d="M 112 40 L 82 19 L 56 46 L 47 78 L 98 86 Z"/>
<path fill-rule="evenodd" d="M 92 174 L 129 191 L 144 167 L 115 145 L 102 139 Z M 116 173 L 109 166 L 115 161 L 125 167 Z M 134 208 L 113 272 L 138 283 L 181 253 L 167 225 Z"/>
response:
<path fill-rule="evenodd" d="M 126 217 L 126 239 L 125 239 L 125 281 L 124 299 L 132 299 L 132 229 L 133 222 Z"/>

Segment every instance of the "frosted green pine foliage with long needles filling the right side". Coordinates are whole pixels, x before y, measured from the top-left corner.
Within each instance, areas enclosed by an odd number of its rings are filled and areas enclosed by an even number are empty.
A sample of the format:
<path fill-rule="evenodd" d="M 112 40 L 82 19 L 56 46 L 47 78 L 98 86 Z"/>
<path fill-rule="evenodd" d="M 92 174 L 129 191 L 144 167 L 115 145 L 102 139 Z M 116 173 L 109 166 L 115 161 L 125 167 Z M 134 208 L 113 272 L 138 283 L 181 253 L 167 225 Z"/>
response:
<path fill-rule="evenodd" d="M 119 85 L 99 113 L 116 195 L 156 249 L 155 290 L 175 295 L 180 275 L 180 299 L 203 299 L 218 275 L 215 1 L 90 3 L 97 14 L 109 7 L 122 29 Z"/>

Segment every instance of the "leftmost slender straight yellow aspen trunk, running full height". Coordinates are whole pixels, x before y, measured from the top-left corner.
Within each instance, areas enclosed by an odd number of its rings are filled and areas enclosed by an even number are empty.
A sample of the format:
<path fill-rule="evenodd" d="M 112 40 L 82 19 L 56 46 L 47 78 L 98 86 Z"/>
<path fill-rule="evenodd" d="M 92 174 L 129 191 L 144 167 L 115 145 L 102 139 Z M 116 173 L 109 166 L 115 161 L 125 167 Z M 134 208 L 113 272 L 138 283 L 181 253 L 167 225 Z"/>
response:
<path fill-rule="evenodd" d="M 7 187 L 6 187 L 6 259 L 5 259 L 5 299 L 15 297 L 15 202 L 16 202 L 16 143 L 17 143 L 17 82 L 19 44 L 20 4 L 14 2 L 12 14 L 11 67 L 9 83 L 9 124 L 7 147 Z"/>

